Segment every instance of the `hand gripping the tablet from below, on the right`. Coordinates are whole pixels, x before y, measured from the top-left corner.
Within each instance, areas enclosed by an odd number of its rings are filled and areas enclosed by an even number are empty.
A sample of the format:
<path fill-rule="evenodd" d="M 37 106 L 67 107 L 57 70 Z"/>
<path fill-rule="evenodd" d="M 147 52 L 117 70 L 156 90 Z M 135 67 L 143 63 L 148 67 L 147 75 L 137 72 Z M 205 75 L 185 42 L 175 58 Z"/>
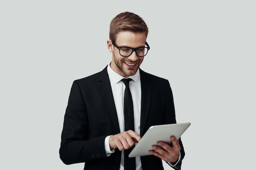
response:
<path fill-rule="evenodd" d="M 153 145 L 152 148 L 154 150 L 150 150 L 149 153 L 161 158 L 166 162 L 176 162 L 180 157 L 181 148 L 179 140 L 176 140 L 174 136 L 171 137 L 171 141 L 173 146 L 170 146 L 164 142 L 157 142 L 158 146 Z"/>

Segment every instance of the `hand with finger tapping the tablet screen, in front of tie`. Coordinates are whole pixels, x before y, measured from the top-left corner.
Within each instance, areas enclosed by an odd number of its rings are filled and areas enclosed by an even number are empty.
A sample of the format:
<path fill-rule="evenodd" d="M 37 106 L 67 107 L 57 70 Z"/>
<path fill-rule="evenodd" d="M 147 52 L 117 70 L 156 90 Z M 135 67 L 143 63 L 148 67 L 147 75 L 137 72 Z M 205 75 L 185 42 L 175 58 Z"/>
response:
<path fill-rule="evenodd" d="M 141 137 L 138 133 L 132 130 L 118 133 L 117 135 L 110 136 L 108 143 L 110 149 L 118 148 L 120 151 L 129 149 L 140 141 Z"/>

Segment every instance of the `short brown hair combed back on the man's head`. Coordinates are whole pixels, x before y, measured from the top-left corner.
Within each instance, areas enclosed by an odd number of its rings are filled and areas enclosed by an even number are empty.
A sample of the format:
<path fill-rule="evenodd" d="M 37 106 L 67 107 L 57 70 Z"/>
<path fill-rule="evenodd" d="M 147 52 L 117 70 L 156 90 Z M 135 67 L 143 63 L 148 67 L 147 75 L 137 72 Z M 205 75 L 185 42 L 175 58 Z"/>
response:
<path fill-rule="evenodd" d="M 116 35 L 121 31 L 144 32 L 148 36 L 148 26 L 144 20 L 134 13 L 119 13 L 110 22 L 109 38 L 116 40 Z"/>

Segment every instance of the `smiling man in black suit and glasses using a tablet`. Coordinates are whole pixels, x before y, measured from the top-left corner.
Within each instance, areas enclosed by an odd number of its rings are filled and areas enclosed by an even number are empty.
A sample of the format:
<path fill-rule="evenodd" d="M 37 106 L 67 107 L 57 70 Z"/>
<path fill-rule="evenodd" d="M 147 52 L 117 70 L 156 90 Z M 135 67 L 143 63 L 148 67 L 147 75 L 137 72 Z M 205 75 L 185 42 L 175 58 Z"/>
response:
<path fill-rule="evenodd" d="M 149 50 L 147 35 L 146 23 L 134 13 L 120 13 L 111 21 L 107 41 L 111 62 L 72 85 L 61 135 L 60 157 L 65 164 L 85 162 L 84 170 L 127 170 L 130 164 L 134 168 L 129 170 L 161 170 L 164 160 L 180 169 L 184 148 L 173 136 L 171 146 L 164 142 L 152 146 L 152 155 L 127 157 L 150 126 L 176 123 L 168 81 L 139 69 Z M 126 129 L 124 78 L 131 78 L 132 130 Z"/>

